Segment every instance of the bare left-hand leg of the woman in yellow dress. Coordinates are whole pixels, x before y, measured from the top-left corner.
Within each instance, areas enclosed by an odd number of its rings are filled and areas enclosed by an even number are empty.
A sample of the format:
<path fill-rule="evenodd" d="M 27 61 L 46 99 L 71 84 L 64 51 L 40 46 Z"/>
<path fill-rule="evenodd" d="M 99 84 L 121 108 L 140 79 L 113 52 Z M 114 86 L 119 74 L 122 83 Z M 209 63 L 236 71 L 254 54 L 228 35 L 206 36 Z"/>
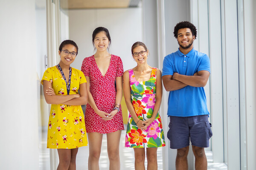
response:
<path fill-rule="evenodd" d="M 68 170 L 71 159 L 71 149 L 58 149 L 59 164 L 57 170 Z"/>

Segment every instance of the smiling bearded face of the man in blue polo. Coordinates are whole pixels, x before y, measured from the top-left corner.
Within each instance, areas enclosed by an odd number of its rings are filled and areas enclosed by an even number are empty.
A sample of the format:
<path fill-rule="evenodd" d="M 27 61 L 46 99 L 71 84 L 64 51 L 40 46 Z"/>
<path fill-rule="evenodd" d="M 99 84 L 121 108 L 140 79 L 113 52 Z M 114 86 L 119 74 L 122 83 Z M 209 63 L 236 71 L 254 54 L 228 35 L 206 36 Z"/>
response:
<path fill-rule="evenodd" d="M 177 41 L 180 45 L 180 48 L 183 49 L 192 49 L 193 41 L 195 40 L 195 36 L 192 35 L 192 32 L 189 28 L 181 28 L 178 30 Z"/>

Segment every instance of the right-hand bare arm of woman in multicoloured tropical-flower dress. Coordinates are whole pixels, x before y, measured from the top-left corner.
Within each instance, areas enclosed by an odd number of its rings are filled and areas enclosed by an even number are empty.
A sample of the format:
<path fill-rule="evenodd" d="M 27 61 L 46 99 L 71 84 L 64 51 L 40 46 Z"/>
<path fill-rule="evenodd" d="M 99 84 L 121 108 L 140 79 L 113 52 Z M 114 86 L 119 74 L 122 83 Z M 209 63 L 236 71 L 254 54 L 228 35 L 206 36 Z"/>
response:
<path fill-rule="evenodd" d="M 157 77 L 156 77 L 156 103 L 154 105 L 154 111 L 150 119 L 145 120 L 145 125 L 148 127 L 156 118 L 157 113 L 160 109 L 163 95 L 163 86 L 162 86 L 162 73 L 157 68 Z"/>

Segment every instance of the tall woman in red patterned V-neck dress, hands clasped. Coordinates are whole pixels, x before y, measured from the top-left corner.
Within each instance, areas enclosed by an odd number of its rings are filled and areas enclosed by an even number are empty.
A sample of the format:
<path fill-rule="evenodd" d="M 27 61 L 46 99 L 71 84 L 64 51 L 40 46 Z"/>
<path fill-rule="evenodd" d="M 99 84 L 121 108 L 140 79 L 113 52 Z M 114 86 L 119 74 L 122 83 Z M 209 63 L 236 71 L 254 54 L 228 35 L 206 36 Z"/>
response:
<path fill-rule="evenodd" d="M 120 170 L 119 142 L 121 130 L 124 129 L 120 105 L 123 65 L 120 57 L 109 54 L 110 43 L 108 29 L 96 28 L 93 31 L 96 53 L 85 58 L 81 66 L 87 80 L 88 91 L 84 120 L 89 142 L 89 170 L 99 170 L 104 133 L 107 134 L 109 169 Z"/>

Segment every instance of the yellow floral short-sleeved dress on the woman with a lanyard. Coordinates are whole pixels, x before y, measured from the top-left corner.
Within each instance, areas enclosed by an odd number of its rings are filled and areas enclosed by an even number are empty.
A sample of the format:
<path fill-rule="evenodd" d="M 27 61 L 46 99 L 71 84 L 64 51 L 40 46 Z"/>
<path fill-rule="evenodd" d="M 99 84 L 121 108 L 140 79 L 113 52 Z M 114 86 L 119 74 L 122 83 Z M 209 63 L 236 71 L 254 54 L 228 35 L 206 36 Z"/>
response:
<path fill-rule="evenodd" d="M 68 79 L 68 77 L 67 77 Z M 66 82 L 57 67 L 47 68 L 41 83 L 52 83 L 56 95 L 67 95 Z M 80 84 L 86 82 L 84 74 L 72 68 L 70 94 L 78 94 Z M 47 148 L 73 149 L 87 145 L 84 113 L 81 106 L 52 105 L 48 123 Z"/>

